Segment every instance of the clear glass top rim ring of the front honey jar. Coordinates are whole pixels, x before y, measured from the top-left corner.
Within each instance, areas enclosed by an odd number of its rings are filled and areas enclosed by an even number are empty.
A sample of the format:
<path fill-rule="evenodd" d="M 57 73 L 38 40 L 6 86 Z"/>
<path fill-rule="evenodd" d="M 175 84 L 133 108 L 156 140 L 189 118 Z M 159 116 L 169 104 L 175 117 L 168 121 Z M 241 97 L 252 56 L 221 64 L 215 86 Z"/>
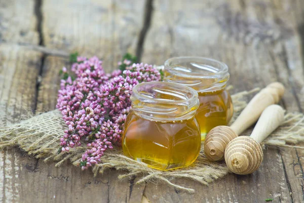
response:
<path fill-rule="evenodd" d="M 181 90 L 181 89 L 188 90 L 192 94 L 192 96 L 189 98 L 186 98 L 186 99 L 179 99 L 179 100 L 160 100 L 158 98 L 151 98 L 145 94 L 138 92 L 138 89 L 141 86 L 158 85 L 158 84 L 163 84 L 163 85 L 167 85 L 167 86 L 175 86 L 176 89 L 178 89 L 178 90 Z M 171 83 L 171 82 L 164 82 L 164 81 L 151 81 L 151 82 L 139 83 L 133 87 L 132 95 L 136 96 L 137 98 L 145 98 L 145 99 L 155 101 L 155 102 L 161 103 L 161 104 L 170 104 L 170 103 L 179 104 L 179 103 L 184 103 L 184 102 L 191 101 L 191 100 L 198 98 L 198 92 L 195 89 L 185 86 L 185 85 L 178 84 L 178 83 Z"/>

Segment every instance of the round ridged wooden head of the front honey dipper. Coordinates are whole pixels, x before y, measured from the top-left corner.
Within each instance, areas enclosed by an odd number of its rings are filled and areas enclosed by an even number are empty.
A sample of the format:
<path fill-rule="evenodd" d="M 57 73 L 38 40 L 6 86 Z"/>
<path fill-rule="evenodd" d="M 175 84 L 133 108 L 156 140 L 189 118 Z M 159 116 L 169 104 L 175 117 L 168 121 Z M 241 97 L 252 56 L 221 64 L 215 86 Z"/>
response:
<path fill-rule="evenodd" d="M 260 166 L 263 152 L 260 144 L 247 136 L 231 141 L 225 151 L 227 167 L 235 174 L 251 174 Z"/>

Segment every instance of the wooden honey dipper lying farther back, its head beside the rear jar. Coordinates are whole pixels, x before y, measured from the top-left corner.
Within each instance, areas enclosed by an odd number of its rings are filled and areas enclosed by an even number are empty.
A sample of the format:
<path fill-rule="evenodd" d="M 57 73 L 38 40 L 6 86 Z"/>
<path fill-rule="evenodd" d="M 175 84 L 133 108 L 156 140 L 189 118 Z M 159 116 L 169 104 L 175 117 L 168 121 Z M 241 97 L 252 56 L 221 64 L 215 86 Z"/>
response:
<path fill-rule="evenodd" d="M 227 144 L 238 137 L 245 129 L 257 121 L 265 108 L 277 104 L 285 88 L 282 83 L 274 82 L 261 89 L 248 103 L 240 116 L 230 126 L 217 126 L 206 135 L 204 151 L 208 159 L 223 160 Z"/>

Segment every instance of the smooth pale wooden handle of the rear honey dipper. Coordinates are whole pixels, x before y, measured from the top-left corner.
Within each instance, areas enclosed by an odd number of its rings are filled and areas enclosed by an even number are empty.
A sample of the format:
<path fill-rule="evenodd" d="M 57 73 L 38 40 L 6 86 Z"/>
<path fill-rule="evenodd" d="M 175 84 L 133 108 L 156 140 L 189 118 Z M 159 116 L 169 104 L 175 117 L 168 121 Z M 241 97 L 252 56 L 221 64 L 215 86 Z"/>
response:
<path fill-rule="evenodd" d="M 237 134 L 257 121 L 265 108 L 277 104 L 283 96 L 285 88 L 282 83 L 274 82 L 261 89 L 248 103 L 240 116 L 230 126 Z"/>

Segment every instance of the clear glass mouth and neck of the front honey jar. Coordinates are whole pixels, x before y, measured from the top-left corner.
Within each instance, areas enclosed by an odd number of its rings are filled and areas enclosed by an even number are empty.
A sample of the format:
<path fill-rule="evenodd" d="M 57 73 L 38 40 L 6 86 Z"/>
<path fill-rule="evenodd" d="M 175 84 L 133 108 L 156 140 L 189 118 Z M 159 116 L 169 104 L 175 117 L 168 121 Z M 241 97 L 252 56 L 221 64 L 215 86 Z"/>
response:
<path fill-rule="evenodd" d="M 191 87 L 170 82 L 145 82 L 133 87 L 132 110 L 156 121 L 185 120 L 199 107 L 198 93 Z"/>

